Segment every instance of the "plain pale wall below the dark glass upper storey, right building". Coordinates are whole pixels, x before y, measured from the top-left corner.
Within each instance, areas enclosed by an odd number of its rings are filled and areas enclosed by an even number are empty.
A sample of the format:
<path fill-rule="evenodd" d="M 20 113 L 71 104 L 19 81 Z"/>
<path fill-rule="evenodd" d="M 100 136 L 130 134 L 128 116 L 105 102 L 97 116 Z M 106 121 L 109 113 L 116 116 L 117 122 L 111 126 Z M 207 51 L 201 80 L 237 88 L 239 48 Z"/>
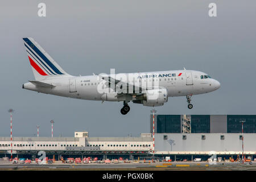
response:
<path fill-rule="evenodd" d="M 163 139 L 167 135 L 167 139 Z M 187 139 L 183 139 L 183 135 Z M 205 139 L 202 139 L 205 135 Z M 224 135 L 225 139 L 221 139 Z M 242 140 L 239 133 L 207 134 L 155 134 L 156 151 L 242 151 Z M 255 151 L 256 134 L 244 135 L 244 151 Z"/>

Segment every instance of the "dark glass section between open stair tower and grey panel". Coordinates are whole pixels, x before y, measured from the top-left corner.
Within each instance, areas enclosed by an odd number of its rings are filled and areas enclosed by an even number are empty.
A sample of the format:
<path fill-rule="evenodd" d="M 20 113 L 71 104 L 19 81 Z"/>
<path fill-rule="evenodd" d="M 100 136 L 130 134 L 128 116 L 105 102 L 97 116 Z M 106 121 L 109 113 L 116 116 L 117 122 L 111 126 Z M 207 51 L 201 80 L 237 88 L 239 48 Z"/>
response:
<path fill-rule="evenodd" d="M 191 115 L 191 133 L 210 133 L 210 115 Z"/>

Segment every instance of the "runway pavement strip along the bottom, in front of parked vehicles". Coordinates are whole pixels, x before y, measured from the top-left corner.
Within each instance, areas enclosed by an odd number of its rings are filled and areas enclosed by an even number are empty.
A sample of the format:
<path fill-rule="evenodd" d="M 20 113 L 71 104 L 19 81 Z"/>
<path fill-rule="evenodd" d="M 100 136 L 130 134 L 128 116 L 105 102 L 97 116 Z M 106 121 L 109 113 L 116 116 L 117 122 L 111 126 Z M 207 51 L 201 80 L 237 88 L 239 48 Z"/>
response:
<path fill-rule="evenodd" d="M 0 162 L 0 170 L 256 170 L 256 163 L 172 162 L 172 163 L 118 163 L 118 164 L 12 164 Z"/>

